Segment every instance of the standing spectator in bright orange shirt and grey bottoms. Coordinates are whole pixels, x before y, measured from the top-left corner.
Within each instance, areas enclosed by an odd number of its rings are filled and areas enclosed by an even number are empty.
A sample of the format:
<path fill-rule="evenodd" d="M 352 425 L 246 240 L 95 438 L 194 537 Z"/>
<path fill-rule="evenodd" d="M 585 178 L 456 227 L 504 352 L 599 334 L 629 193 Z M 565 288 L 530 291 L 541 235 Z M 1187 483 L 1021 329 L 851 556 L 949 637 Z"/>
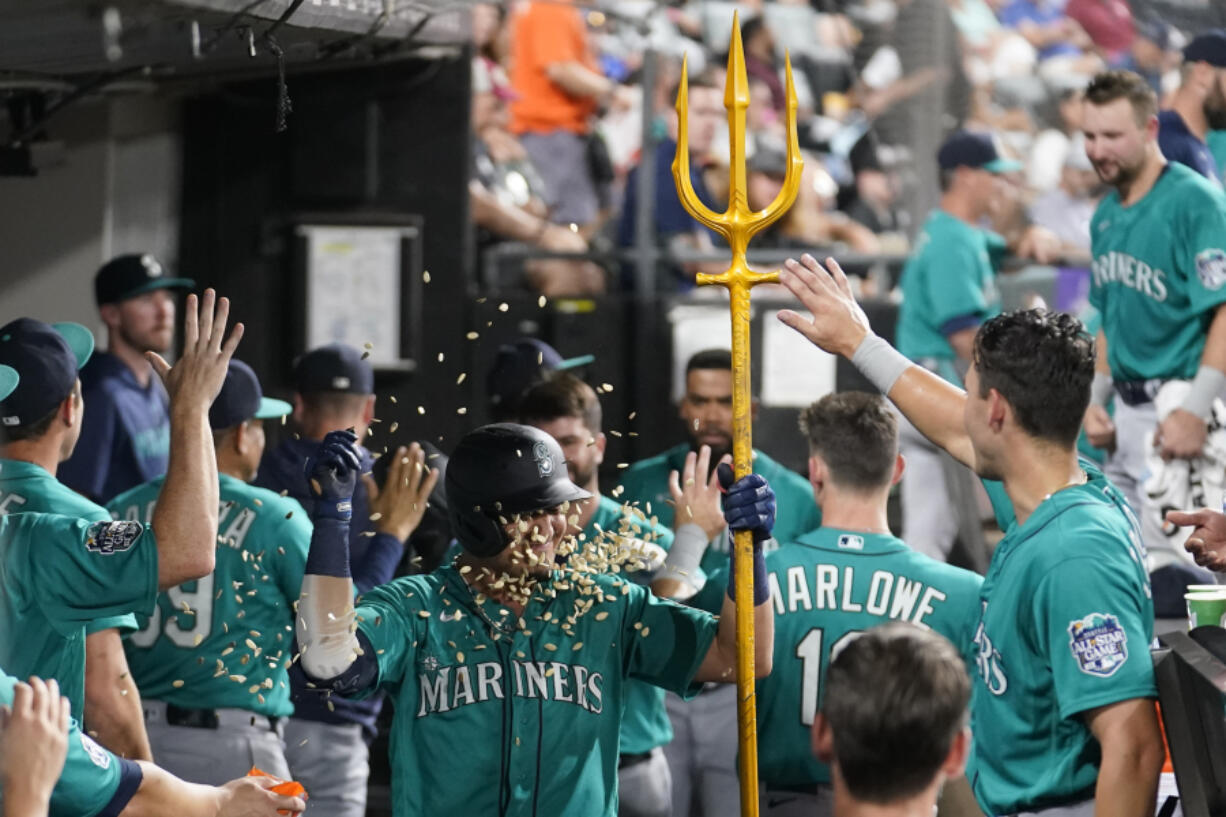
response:
<path fill-rule="evenodd" d="M 636 96 L 600 72 L 582 12 L 571 0 L 533 0 L 511 17 L 511 131 L 544 177 L 549 220 L 598 229 L 608 153 L 590 119 L 602 105 L 631 108 Z"/>

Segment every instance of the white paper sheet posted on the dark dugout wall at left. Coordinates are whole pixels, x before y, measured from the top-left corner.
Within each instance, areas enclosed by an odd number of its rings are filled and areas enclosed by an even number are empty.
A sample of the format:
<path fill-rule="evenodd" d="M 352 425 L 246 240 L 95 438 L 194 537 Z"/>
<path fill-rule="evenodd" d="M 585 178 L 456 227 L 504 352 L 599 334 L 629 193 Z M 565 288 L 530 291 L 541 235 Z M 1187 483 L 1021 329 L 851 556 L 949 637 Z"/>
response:
<path fill-rule="evenodd" d="M 306 347 L 370 343 L 370 364 L 400 361 L 397 227 L 313 227 L 306 237 Z"/>

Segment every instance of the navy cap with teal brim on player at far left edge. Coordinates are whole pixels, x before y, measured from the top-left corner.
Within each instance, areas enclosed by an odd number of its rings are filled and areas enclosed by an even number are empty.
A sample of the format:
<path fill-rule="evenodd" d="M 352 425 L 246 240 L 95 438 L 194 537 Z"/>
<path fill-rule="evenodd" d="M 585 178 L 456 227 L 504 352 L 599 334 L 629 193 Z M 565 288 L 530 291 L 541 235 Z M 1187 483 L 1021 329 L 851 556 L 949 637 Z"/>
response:
<path fill-rule="evenodd" d="M 0 402 L 0 423 L 27 426 L 60 405 L 93 355 L 93 335 L 81 324 L 45 324 L 18 318 L 0 326 L 0 364 L 20 383 Z"/>

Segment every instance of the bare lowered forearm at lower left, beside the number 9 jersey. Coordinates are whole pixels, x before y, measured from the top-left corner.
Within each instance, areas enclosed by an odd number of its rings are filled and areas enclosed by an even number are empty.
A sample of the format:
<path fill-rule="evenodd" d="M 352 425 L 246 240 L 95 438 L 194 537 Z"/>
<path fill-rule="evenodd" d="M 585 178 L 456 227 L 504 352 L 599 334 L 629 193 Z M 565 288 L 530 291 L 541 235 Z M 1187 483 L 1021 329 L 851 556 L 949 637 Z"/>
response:
<path fill-rule="evenodd" d="M 85 726 L 104 747 L 132 761 L 152 761 L 141 694 L 128 671 L 118 629 L 86 638 Z"/>

